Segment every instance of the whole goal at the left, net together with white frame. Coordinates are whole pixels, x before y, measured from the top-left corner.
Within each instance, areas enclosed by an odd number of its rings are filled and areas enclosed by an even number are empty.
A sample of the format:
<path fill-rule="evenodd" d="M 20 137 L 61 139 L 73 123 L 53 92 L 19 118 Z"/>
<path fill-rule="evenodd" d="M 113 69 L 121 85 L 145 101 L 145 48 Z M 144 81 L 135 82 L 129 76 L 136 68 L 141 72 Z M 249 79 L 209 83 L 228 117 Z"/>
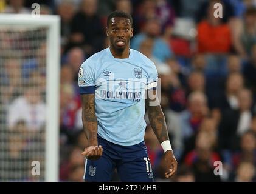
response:
<path fill-rule="evenodd" d="M 0 15 L 0 181 L 58 181 L 58 16 Z"/>

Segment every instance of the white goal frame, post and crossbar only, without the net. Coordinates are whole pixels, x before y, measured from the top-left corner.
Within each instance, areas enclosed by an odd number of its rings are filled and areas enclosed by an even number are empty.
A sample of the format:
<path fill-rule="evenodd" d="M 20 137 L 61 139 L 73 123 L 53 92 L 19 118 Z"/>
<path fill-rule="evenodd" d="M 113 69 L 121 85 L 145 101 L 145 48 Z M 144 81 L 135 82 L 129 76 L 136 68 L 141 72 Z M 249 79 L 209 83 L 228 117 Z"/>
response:
<path fill-rule="evenodd" d="M 43 181 L 58 181 L 59 171 L 59 73 L 60 17 L 56 15 L 0 14 L 0 28 L 45 27 L 46 32 L 46 122 L 45 173 Z M 0 30 L 1 31 L 1 30 Z M 0 34 L 1 36 L 1 34 Z M 2 52 L 2 51 L 1 51 Z M 1 65 L 1 62 L 0 62 Z M 0 129 L 1 130 L 1 129 Z M 1 149 L 0 149 L 1 152 Z M 32 168 L 33 166 L 31 166 Z"/>

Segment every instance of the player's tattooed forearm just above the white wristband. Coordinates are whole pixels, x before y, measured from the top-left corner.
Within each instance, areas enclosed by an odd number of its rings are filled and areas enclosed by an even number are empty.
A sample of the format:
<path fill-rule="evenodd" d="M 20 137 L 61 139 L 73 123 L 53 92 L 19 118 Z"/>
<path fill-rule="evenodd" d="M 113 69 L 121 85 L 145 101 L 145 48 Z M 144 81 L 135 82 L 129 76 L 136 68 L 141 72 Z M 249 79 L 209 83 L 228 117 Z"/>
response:
<path fill-rule="evenodd" d="M 164 113 L 162 112 L 161 106 L 148 107 L 148 118 L 150 120 L 150 125 L 156 134 L 158 141 L 161 143 L 168 140 L 167 126 L 164 118 Z"/>

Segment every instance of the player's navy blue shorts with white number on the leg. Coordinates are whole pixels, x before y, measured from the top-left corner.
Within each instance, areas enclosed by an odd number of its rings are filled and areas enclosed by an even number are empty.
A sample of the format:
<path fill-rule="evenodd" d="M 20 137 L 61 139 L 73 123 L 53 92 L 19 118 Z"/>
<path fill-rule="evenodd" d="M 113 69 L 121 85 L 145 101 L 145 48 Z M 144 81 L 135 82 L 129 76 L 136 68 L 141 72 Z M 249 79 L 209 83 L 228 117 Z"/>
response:
<path fill-rule="evenodd" d="M 117 169 L 120 181 L 153 182 L 153 173 L 145 142 L 133 146 L 120 146 L 98 135 L 98 144 L 103 147 L 100 159 L 85 161 L 85 181 L 111 181 Z"/>

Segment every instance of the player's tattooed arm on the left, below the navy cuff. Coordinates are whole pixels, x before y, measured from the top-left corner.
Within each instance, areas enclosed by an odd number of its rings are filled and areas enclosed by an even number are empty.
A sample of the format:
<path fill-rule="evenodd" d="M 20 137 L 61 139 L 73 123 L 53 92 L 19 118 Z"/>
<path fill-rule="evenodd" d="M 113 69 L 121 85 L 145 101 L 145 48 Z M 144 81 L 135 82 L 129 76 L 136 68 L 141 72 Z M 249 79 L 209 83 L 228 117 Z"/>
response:
<path fill-rule="evenodd" d="M 83 129 L 89 145 L 97 146 L 97 118 L 95 115 L 94 94 L 81 95 Z"/>

